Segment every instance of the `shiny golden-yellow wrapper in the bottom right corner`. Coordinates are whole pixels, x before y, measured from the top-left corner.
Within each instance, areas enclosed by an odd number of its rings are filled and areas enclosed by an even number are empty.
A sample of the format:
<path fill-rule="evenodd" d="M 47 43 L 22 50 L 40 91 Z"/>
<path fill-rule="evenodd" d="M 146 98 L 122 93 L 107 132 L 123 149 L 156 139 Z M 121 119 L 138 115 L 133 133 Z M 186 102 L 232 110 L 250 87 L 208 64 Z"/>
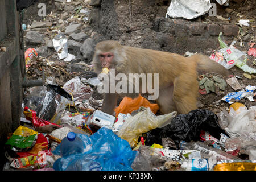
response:
<path fill-rule="evenodd" d="M 214 166 L 214 171 L 256 171 L 256 163 L 222 163 Z"/>

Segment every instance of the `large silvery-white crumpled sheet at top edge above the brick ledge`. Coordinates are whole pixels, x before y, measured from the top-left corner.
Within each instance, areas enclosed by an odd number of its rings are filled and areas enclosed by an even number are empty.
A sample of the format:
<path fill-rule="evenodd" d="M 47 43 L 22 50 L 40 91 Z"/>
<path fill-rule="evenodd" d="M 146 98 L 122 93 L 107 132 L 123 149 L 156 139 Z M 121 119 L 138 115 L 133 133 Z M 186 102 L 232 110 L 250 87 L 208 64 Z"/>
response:
<path fill-rule="evenodd" d="M 211 7 L 210 0 L 172 0 L 167 15 L 171 18 L 194 19 L 207 13 Z"/>

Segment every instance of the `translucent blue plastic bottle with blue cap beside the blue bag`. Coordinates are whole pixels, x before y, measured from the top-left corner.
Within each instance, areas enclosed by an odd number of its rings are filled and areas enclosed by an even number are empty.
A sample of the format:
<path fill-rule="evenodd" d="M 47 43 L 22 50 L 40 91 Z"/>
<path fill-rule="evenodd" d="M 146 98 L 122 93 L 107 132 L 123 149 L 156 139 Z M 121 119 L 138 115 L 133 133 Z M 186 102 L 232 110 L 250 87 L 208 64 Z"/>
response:
<path fill-rule="evenodd" d="M 79 154 L 84 150 L 84 142 L 76 134 L 69 132 L 60 143 L 60 152 L 62 156 Z"/>

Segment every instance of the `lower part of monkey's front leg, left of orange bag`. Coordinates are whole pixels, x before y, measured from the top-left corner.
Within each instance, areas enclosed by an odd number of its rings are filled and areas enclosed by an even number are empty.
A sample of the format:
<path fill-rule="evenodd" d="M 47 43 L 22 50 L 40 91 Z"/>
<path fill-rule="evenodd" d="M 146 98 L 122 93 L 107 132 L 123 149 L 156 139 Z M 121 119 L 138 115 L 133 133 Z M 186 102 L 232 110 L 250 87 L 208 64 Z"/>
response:
<path fill-rule="evenodd" d="M 108 93 L 104 94 L 104 100 L 101 107 L 101 111 L 110 115 L 113 115 L 115 106 L 117 106 L 118 94 Z"/>

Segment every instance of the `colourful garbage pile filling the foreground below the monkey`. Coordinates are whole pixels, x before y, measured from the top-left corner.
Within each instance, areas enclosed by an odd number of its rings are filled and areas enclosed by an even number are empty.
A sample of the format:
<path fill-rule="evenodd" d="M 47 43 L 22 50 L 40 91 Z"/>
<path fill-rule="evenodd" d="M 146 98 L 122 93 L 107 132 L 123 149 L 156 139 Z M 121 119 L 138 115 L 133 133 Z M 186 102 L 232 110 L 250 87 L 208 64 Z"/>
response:
<path fill-rule="evenodd" d="M 79 77 L 62 88 L 47 81 L 24 98 L 22 125 L 5 143 L 3 170 L 256 169 L 255 106 L 234 102 L 218 114 L 197 109 L 156 115 L 157 104 L 125 97 L 114 116 L 100 111 L 102 101 Z M 134 103 L 141 103 L 139 109 Z"/>

